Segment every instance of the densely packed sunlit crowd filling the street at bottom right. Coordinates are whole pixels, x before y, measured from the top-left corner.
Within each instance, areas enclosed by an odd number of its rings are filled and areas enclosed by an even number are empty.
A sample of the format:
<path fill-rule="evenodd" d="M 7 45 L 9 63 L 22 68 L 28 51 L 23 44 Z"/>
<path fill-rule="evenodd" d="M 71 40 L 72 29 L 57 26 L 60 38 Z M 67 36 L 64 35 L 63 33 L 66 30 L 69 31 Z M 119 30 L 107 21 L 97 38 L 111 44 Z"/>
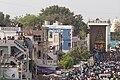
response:
<path fill-rule="evenodd" d="M 93 66 L 83 64 L 66 73 L 64 80 L 120 80 L 120 62 L 99 62 Z"/>

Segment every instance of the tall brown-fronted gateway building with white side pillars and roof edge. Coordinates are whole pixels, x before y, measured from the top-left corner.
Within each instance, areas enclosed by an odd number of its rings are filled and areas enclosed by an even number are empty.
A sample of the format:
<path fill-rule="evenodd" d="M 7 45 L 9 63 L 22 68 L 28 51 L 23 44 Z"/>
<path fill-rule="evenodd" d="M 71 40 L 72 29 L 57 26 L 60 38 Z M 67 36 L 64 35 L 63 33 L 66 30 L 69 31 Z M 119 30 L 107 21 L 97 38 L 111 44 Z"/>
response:
<path fill-rule="evenodd" d="M 108 51 L 110 49 L 110 20 L 104 21 L 99 18 L 89 20 L 89 51 Z"/>

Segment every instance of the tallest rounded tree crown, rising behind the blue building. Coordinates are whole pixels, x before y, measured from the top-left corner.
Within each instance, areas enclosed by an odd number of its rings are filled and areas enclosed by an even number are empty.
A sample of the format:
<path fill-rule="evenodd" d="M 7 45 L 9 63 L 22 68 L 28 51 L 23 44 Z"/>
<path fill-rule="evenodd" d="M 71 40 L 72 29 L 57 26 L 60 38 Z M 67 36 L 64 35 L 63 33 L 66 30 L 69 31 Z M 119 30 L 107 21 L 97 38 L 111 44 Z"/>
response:
<path fill-rule="evenodd" d="M 39 16 L 44 17 L 44 20 L 48 20 L 51 24 L 55 21 L 59 21 L 64 25 L 71 25 L 74 18 L 74 13 L 69 8 L 59 7 L 58 5 L 49 6 L 41 10 Z"/>

